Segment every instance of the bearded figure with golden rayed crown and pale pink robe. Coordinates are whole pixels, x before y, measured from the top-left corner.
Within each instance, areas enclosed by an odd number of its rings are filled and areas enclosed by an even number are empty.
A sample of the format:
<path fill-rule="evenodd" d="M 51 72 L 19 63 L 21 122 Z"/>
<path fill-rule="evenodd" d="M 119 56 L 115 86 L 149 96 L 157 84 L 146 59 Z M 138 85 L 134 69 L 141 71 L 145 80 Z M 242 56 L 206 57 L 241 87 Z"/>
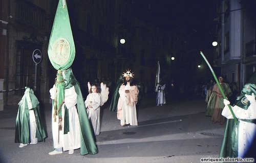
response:
<path fill-rule="evenodd" d="M 121 126 L 137 126 L 136 104 L 138 102 L 139 89 L 133 84 L 131 70 L 123 73 L 124 83 L 119 88 L 119 99 L 117 104 L 117 119 L 120 120 Z"/>

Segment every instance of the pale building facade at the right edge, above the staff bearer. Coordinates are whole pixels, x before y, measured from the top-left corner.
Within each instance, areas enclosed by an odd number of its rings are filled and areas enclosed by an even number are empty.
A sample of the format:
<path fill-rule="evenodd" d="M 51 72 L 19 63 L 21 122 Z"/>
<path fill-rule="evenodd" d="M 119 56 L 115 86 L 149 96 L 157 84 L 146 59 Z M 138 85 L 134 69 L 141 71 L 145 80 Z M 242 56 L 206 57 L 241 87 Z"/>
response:
<path fill-rule="evenodd" d="M 256 68 L 255 1 L 219 1 L 217 8 L 218 45 L 215 66 L 227 81 L 236 82 L 239 89 Z"/>

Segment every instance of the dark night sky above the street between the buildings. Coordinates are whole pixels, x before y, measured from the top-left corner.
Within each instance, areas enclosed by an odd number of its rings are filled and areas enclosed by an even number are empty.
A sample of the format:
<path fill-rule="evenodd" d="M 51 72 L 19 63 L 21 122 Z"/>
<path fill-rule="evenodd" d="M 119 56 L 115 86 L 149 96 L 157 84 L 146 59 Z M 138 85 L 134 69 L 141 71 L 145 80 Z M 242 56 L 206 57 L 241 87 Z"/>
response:
<path fill-rule="evenodd" d="M 186 32 L 189 48 L 207 48 L 215 36 L 216 2 L 206 0 L 136 0 L 137 16 L 163 29 L 179 26 Z"/>

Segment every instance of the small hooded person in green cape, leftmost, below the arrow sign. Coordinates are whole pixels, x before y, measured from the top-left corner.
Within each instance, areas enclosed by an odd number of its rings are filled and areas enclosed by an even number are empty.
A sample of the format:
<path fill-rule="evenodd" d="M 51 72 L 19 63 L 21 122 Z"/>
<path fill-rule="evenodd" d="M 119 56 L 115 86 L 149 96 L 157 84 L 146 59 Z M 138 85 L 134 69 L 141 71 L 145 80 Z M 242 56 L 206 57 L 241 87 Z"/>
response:
<path fill-rule="evenodd" d="M 45 141 L 47 132 L 40 115 L 39 101 L 34 90 L 26 87 L 22 100 L 18 103 L 18 113 L 15 125 L 15 143 L 19 148 L 28 144 Z"/>

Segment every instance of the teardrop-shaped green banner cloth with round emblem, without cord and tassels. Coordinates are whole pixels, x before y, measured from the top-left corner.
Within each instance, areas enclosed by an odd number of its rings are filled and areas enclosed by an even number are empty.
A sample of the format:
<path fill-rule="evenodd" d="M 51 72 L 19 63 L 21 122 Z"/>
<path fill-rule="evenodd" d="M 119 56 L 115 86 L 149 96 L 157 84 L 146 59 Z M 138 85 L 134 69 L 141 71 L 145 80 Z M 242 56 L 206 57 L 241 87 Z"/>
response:
<path fill-rule="evenodd" d="M 65 0 L 59 0 L 48 46 L 48 56 L 57 70 L 68 69 L 75 58 L 75 43 Z"/>

